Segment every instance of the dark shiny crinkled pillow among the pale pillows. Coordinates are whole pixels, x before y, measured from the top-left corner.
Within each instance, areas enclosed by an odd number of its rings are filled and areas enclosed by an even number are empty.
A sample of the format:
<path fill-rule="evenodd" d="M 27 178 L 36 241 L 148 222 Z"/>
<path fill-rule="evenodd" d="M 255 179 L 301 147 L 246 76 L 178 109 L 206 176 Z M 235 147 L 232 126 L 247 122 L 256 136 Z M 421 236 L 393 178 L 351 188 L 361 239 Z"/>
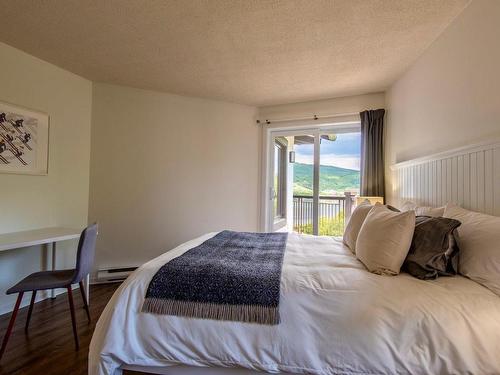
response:
<path fill-rule="evenodd" d="M 456 275 L 460 221 L 444 217 L 417 216 L 410 251 L 403 270 L 419 279 Z"/>

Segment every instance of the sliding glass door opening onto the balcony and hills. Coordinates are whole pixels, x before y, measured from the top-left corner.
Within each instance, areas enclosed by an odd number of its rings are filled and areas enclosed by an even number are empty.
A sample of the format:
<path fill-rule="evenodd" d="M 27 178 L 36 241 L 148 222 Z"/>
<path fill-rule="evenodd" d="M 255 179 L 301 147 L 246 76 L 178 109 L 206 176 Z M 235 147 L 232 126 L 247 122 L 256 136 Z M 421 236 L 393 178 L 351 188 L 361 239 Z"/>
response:
<path fill-rule="evenodd" d="M 268 230 L 341 236 L 359 194 L 359 127 L 270 134 Z"/>

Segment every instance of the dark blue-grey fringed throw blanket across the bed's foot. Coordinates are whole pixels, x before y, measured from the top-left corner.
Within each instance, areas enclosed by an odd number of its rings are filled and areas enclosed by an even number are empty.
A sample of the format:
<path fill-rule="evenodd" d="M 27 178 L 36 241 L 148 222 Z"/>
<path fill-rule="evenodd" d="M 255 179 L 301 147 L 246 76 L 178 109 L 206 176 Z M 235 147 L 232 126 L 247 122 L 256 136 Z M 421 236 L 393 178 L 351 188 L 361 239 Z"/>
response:
<path fill-rule="evenodd" d="M 153 276 L 143 312 L 278 324 L 287 233 L 223 231 Z"/>

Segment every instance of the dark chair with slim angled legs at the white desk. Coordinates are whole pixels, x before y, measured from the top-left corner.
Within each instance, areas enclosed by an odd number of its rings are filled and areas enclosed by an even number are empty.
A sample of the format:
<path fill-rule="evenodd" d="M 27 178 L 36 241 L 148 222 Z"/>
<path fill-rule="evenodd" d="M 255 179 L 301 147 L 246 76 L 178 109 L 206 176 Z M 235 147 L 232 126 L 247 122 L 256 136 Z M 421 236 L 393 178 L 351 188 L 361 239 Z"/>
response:
<path fill-rule="evenodd" d="M 7 342 L 9 341 L 9 336 L 12 332 L 12 328 L 14 327 L 14 322 L 16 320 L 17 312 L 19 310 L 19 306 L 21 305 L 24 293 L 33 292 L 31 294 L 31 303 L 28 310 L 28 317 L 26 318 L 25 331 L 27 332 L 31 313 L 33 312 L 33 305 L 35 304 L 36 292 L 39 290 L 56 288 L 66 288 L 68 291 L 71 322 L 73 324 L 73 335 L 75 336 L 75 346 L 78 350 L 80 345 L 78 343 L 78 333 L 76 331 L 75 306 L 73 304 L 73 291 L 71 289 L 71 285 L 80 284 L 80 292 L 82 293 L 83 304 L 90 323 L 90 312 L 89 306 L 87 304 L 85 290 L 83 289 L 83 279 L 90 273 L 92 269 L 96 239 L 97 224 L 93 224 L 83 230 L 78 242 L 78 252 L 76 254 L 75 269 L 35 272 L 25 277 L 12 288 L 7 290 L 7 294 L 19 293 L 19 295 L 17 296 L 16 305 L 14 306 L 14 310 L 12 311 L 9 326 L 7 327 L 7 332 L 5 332 L 5 337 L 2 342 L 2 348 L 0 349 L 0 359 L 2 358 L 5 347 L 7 346 Z"/>

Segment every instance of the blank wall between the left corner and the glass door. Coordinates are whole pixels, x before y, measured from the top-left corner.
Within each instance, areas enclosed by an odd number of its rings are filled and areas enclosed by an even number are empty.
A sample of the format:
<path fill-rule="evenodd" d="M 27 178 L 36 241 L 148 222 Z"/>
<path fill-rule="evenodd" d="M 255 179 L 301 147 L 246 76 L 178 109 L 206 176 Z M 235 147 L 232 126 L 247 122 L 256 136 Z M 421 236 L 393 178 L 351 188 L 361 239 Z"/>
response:
<path fill-rule="evenodd" d="M 221 229 L 255 231 L 252 107 L 96 83 L 89 220 L 96 268 L 139 265 Z"/>

